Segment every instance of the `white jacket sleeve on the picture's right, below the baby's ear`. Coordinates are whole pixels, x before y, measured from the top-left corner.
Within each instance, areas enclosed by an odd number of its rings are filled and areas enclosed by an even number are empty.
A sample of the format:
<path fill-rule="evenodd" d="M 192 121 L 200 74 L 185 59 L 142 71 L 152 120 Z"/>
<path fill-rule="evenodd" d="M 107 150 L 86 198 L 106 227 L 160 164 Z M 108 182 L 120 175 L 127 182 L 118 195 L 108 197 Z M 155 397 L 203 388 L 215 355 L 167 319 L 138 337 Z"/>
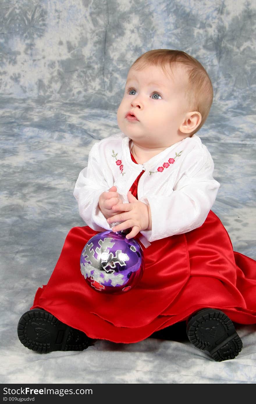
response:
<path fill-rule="evenodd" d="M 152 230 L 141 233 L 148 241 L 186 233 L 203 224 L 220 187 L 213 170 L 207 148 L 193 149 L 182 162 L 169 196 L 152 194 L 144 198 L 150 206 Z"/>

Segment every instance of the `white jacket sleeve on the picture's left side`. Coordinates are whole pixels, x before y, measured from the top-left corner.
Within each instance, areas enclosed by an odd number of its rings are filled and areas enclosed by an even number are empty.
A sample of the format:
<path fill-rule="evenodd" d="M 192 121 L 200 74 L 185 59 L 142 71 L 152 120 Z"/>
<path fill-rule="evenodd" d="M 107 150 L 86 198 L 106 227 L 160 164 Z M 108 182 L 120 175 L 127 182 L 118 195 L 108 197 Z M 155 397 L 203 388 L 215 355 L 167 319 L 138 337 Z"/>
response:
<path fill-rule="evenodd" d="M 88 166 L 80 172 L 73 193 L 78 202 L 80 216 L 96 231 L 110 229 L 98 206 L 99 196 L 113 185 L 108 184 L 104 171 L 104 164 L 99 156 L 99 142 L 97 142 L 91 148 Z"/>

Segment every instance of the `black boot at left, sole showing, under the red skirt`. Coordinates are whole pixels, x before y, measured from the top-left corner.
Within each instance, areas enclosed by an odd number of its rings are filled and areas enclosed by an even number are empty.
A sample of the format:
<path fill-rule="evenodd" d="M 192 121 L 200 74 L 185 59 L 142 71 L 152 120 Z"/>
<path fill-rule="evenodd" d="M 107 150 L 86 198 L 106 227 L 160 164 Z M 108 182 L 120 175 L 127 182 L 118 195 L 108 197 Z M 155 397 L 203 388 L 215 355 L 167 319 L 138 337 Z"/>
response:
<path fill-rule="evenodd" d="M 18 323 L 21 343 L 32 351 L 83 351 L 94 340 L 75 328 L 59 321 L 43 309 L 32 309 L 21 316 Z"/>

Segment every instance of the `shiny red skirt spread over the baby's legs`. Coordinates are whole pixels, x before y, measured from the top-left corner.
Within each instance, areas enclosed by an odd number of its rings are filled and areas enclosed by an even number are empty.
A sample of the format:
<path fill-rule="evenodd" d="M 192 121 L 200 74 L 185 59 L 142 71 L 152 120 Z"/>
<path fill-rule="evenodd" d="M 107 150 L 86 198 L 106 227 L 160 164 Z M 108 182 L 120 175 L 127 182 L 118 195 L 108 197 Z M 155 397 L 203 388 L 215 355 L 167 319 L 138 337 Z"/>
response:
<path fill-rule="evenodd" d="M 97 292 L 81 274 L 81 252 L 95 234 L 88 226 L 70 230 L 32 309 L 45 309 L 93 339 L 118 343 L 141 341 L 204 307 L 240 324 L 256 323 L 256 261 L 233 251 L 212 211 L 198 229 L 142 246 L 143 276 L 120 295 Z"/>

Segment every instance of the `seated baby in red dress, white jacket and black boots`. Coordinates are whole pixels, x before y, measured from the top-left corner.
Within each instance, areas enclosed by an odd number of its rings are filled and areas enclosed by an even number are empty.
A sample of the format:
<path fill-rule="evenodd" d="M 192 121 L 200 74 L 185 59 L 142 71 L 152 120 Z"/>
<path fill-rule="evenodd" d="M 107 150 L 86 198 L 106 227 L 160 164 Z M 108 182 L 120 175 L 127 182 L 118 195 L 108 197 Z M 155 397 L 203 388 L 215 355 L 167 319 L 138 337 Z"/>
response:
<path fill-rule="evenodd" d="M 131 66 L 117 111 L 121 133 L 95 143 L 74 196 L 87 226 L 70 230 L 47 285 L 18 324 L 26 347 L 83 350 L 95 339 L 135 343 L 178 322 L 216 361 L 235 358 L 233 322 L 256 322 L 256 262 L 233 251 L 211 211 L 220 184 L 195 133 L 212 105 L 211 80 L 180 50 L 151 50 Z M 80 255 L 100 231 L 143 249 L 142 279 L 125 294 L 93 290 Z M 250 278 L 250 279 L 249 279 Z"/>

